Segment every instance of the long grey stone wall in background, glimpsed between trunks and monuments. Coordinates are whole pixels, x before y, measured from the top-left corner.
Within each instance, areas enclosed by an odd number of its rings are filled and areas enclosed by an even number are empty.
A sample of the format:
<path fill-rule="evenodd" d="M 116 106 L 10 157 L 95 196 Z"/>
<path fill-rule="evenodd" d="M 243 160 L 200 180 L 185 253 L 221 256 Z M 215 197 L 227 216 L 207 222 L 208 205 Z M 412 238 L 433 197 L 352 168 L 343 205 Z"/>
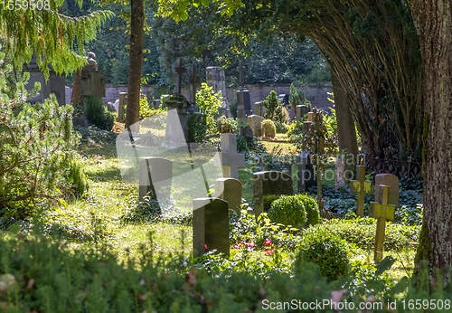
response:
<path fill-rule="evenodd" d="M 251 98 L 251 109 L 254 109 L 254 102 L 265 100 L 271 90 L 275 90 L 277 94 L 289 93 L 290 84 L 258 84 L 258 85 L 246 85 L 248 90 L 250 90 Z M 142 86 L 142 93 L 152 92 L 154 90 L 154 85 Z M 317 85 L 317 84 L 307 84 L 302 86 L 297 86 L 299 90 L 305 93 L 306 99 L 311 101 L 312 104 L 321 109 L 329 109 L 331 107 L 331 102 L 328 101 L 327 92 L 333 92 L 331 88 L 331 83 Z M 71 101 L 72 89 L 66 88 L 66 102 Z M 119 92 L 127 92 L 127 85 L 105 85 L 105 98 L 103 98 L 105 103 L 115 102 L 119 99 Z M 234 103 L 235 89 L 226 88 L 226 99 L 229 103 Z M 190 96 L 190 90 L 182 90 L 184 96 L 188 99 Z"/>

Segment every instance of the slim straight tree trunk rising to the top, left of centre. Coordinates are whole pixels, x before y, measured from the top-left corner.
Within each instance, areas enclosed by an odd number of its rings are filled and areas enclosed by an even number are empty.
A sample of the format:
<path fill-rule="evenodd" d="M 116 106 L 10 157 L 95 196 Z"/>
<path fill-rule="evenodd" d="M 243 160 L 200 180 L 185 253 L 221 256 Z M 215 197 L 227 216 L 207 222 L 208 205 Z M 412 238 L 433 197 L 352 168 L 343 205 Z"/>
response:
<path fill-rule="evenodd" d="M 143 65 L 143 0 L 130 0 L 130 58 L 128 65 L 126 128 L 139 132 L 141 67 Z"/>

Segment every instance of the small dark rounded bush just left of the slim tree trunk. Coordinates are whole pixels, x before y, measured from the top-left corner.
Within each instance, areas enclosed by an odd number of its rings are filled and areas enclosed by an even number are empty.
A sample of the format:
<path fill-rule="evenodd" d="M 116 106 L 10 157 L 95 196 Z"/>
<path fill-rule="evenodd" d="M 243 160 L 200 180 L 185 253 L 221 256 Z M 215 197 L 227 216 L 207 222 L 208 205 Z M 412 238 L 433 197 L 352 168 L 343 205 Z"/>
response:
<path fill-rule="evenodd" d="M 113 113 L 108 112 L 104 102 L 95 96 L 88 96 L 84 99 L 86 118 L 97 128 L 111 130 L 115 124 Z"/>

